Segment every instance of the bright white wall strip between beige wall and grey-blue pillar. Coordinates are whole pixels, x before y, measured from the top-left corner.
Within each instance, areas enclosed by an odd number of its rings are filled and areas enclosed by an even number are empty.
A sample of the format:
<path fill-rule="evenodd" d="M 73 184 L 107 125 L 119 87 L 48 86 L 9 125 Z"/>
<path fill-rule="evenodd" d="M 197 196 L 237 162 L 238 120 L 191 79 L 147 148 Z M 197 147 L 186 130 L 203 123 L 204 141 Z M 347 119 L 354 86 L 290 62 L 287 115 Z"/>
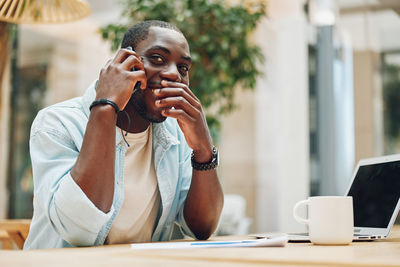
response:
<path fill-rule="evenodd" d="M 307 22 L 303 1 L 268 1 L 256 39 L 266 56 L 255 94 L 257 231 L 301 231 L 294 204 L 309 194 Z"/>

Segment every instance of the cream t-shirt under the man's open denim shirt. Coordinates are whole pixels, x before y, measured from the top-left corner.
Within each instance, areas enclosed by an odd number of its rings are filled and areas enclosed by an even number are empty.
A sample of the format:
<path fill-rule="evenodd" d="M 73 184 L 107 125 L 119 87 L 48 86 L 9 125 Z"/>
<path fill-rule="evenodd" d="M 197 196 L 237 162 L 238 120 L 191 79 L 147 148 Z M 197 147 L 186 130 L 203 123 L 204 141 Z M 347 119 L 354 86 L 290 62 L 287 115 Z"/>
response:
<path fill-rule="evenodd" d="M 106 244 L 149 242 L 160 204 L 152 153 L 151 125 L 142 133 L 128 133 L 124 163 L 124 202 Z"/>

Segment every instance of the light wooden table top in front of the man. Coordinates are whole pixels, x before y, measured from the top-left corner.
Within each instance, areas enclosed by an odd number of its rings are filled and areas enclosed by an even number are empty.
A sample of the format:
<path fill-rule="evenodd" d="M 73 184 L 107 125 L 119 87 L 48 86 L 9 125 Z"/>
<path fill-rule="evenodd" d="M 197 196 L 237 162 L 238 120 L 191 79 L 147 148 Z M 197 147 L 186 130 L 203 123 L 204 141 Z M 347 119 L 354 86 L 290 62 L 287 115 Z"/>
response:
<path fill-rule="evenodd" d="M 220 238 L 218 238 L 220 239 Z M 347 246 L 130 250 L 129 245 L 0 251 L 0 266 L 400 266 L 400 227 L 384 241 Z"/>

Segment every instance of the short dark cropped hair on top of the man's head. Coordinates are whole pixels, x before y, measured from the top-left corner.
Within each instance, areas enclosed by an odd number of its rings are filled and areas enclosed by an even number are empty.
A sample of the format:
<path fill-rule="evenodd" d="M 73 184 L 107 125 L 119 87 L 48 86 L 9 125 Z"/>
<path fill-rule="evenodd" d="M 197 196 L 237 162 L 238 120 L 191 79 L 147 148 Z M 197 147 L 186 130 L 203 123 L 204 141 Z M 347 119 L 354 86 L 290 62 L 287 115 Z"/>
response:
<path fill-rule="evenodd" d="M 135 47 L 139 42 L 147 39 L 150 27 L 171 29 L 183 35 L 183 33 L 171 23 L 161 20 L 145 20 L 133 25 L 126 31 L 124 38 L 122 39 L 121 48 L 131 46 L 133 50 L 135 50 Z"/>

